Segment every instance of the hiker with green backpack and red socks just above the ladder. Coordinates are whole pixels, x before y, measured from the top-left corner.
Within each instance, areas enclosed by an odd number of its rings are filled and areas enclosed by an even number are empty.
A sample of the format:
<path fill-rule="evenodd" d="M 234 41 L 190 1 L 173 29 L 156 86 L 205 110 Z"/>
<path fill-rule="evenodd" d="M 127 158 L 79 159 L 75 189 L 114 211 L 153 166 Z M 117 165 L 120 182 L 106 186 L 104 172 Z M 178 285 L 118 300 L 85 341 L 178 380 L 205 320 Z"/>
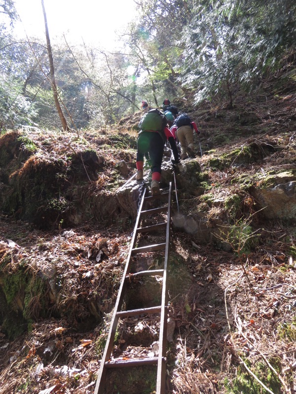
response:
<path fill-rule="evenodd" d="M 139 136 L 137 140 L 137 181 L 143 180 L 144 156 L 149 153 L 152 173 L 151 194 L 160 194 L 159 181 L 165 142 L 168 140 L 173 151 L 174 163 L 179 163 L 179 155 L 175 139 L 167 128 L 167 118 L 158 109 L 150 109 L 139 123 Z"/>

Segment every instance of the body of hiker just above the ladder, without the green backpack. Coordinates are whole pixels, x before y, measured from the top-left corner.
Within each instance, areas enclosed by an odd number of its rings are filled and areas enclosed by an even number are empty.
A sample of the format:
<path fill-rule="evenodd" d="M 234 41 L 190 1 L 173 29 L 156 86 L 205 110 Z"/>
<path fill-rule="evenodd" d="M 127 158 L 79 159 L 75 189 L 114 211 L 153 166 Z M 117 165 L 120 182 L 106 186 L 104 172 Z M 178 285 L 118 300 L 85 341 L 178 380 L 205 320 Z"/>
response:
<path fill-rule="evenodd" d="M 163 127 L 162 130 L 152 131 L 140 131 L 137 141 L 137 176 L 138 181 L 143 179 L 144 176 L 144 156 L 145 153 L 149 153 L 150 157 L 150 168 L 152 172 L 151 181 L 151 194 L 152 196 L 160 194 L 159 181 L 161 174 L 161 164 L 163 158 L 163 151 L 165 140 L 168 140 L 173 151 L 175 163 L 179 163 L 179 155 L 176 146 L 176 142 L 173 134 L 167 127 Z"/>

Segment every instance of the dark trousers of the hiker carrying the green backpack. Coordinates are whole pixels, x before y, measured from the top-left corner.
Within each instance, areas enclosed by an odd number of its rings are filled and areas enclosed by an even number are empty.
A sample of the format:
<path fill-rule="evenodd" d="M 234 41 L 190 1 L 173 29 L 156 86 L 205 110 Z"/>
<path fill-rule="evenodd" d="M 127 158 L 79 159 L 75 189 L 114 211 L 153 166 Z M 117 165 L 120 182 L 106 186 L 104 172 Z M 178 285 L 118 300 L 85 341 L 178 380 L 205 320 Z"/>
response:
<path fill-rule="evenodd" d="M 137 162 L 144 162 L 145 153 L 148 152 L 151 161 L 151 171 L 161 172 L 164 142 L 156 131 L 142 131 L 137 141 Z"/>

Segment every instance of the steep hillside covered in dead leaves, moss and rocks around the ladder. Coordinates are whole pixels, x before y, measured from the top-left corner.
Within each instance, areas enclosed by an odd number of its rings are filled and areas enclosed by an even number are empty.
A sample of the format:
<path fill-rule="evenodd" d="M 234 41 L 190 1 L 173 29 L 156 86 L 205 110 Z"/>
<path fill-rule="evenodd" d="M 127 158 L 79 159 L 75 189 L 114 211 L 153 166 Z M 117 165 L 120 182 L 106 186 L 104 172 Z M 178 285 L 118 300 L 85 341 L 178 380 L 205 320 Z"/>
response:
<path fill-rule="evenodd" d="M 174 103 L 201 134 L 175 172 L 167 393 L 295 393 L 296 70 L 234 92 L 231 109 Z M 0 136 L 0 394 L 94 392 L 137 214 L 140 117 Z M 114 351 L 149 352 L 157 324 L 124 350 L 121 327 Z"/>

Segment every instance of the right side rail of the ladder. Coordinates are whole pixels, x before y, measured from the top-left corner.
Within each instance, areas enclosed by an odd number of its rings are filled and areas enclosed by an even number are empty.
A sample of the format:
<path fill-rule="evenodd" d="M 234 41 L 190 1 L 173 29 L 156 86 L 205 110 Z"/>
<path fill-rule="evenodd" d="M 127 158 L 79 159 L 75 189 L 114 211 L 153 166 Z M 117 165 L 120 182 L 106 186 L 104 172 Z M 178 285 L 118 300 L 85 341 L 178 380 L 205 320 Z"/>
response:
<path fill-rule="evenodd" d="M 166 227 L 166 248 L 164 258 L 164 272 L 162 281 L 162 295 L 161 295 L 161 312 L 160 312 L 160 328 L 159 328 L 159 353 L 157 362 L 157 380 L 156 380 L 156 394 L 165 393 L 165 376 L 166 376 L 166 341 L 167 341 L 167 266 L 170 253 L 170 229 L 171 229 L 171 198 L 172 198 L 172 183 L 169 187 L 168 198 L 168 217 Z"/>

